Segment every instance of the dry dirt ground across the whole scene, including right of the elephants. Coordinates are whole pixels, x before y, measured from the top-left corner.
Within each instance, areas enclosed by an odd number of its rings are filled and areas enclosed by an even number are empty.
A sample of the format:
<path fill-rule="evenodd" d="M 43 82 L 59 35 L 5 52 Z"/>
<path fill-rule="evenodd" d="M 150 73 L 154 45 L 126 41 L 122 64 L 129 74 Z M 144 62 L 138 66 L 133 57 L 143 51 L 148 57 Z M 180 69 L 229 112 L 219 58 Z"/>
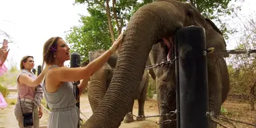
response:
<path fill-rule="evenodd" d="M 15 98 L 7 98 L 7 102 L 9 103 L 9 106 L 7 108 L 0 109 L 0 127 L 18 127 L 18 122 L 15 119 L 13 110 L 14 110 L 14 102 Z M 90 108 L 90 104 L 88 101 L 88 96 L 83 95 L 80 98 L 80 108 L 82 113 L 84 115 L 81 115 L 82 119 L 85 121 L 92 115 L 92 110 Z M 226 116 L 230 119 L 236 119 L 240 121 L 245 121 L 247 123 L 256 123 L 256 112 L 255 111 L 250 111 L 248 104 L 246 102 L 242 102 L 241 100 L 230 100 L 228 99 L 223 107 L 226 109 L 225 113 Z M 133 106 L 133 113 L 137 115 L 137 100 L 135 101 L 135 104 Z M 148 100 L 146 101 L 145 104 L 145 115 L 158 115 L 158 107 L 157 103 Z M 49 114 L 44 110 L 44 115 L 42 116 L 42 119 L 40 119 L 40 125 L 47 125 L 49 118 Z M 134 117 L 135 119 L 135 117 Z M 135 119 L 136 120 L 136 119 Z M 133 123 L 123 123 L 121 124 L 121 128 L 140 128 L 140 127 L 145 127 L 145 128 L 156 128 L 158 125 L 155 123 L 158 121 L 158 117 L 154 118 L 148 118 L 146 121 L 134 121 Z M 232 125 L 227 125 L 224 123 L 226 127 L 232 127 Z M 253 128 L 252 126 L 249 125 L 243 125 L 240 123 L 234 123 L 234 125 L 238 128 Z M 219 128 L 220 126 L 218 126 Z"/>

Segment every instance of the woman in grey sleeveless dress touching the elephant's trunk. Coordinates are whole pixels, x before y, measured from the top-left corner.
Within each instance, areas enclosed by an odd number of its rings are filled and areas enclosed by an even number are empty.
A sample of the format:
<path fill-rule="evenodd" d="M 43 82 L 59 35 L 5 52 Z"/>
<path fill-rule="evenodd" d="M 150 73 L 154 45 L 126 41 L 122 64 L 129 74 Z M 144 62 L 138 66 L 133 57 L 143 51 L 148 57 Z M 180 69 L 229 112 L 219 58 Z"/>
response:
<path fill-rule="evenodd" d="M 122 35 L 122 34 L 121 34 Z M 83 79 L 78 85 L 79 96 L 88 84 L 88 79 L 106 63 L 121 42 L 121 36 L 101 57 L 86 67 L 68 68 L 63 63 L 70 59 L 69 46 L 60 37 L 52 37 L 44 43 L 43 61 L 49 65 L 43 82 L 44 98 L 49 104 L 49 128 L 77 128 L 79 109 L 75 106 L 73 85 L 71 82 Z M 86 52 L 86 51 L 85 51 Z M 43 63 L 44 65 L 44 63 Z"/>

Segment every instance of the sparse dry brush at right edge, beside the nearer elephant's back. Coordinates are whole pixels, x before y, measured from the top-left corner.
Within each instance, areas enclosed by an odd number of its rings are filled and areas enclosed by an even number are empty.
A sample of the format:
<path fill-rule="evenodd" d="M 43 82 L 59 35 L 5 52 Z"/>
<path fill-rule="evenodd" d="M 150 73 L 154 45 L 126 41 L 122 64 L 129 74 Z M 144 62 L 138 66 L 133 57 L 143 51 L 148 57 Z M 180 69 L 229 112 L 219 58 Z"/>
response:
<path fill-rule="evenodd" d="M 236 49 L 242 51 L 256 48 L 256 20 L 255 12 L 251 15 L 235 14 L 236 20 L 240 20 L 239 24 L 234 24 L 238 28 L 238 46 Z M 256 100 L 256 55 L 240 54 L 231 55 L 230 65 L 232 68 L 230 71 L 230 81 L 232 91 L 231 93 L 243 94 L 249 96 L 249 103 L 251 104 L 251 110 L 255 110 L 254 102 Z"/>

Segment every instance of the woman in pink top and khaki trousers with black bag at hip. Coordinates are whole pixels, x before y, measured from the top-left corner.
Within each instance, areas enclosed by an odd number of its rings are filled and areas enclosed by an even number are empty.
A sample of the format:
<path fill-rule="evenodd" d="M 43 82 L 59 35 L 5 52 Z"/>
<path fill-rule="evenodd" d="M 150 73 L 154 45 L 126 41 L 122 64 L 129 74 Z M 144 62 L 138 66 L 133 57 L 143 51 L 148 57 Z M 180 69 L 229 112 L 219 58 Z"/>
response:
<path fill-rule="evenodd" d="M 19 127 L 38 128 L 39 119 L 42 117 L 40 102 L 42 99 L 42 79 L 46 69 L 36 77 L 32 73 L 34 58 L 25 56 L 20 61 L 21 73 L 17 77 L 18 99 L 15 104 L 14 114 Z"/>

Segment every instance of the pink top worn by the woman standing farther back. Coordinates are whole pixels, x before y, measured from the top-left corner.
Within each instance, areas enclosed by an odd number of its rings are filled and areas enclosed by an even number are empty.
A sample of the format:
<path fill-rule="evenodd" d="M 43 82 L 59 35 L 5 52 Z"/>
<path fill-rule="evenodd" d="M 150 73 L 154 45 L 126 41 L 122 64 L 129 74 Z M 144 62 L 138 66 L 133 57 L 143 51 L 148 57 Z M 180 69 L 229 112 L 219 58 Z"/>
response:
<path fill-rule="evenodd" d="M 24 73 L 24 72 L 22 72 L 22 73 Z M 22 73 L 20 73 L 20 75 Z M 26 73 L 26 74 L 28 74 L 28 76 L 32 77 L 31 74 L 29 74 L 29 73 Z M 18 77 L 17 77 L 17 83 L 18 83 L 17 89 L 20 94 L 20 98 L 29 98 L 29 99 L 33 100 L 34 99 L 34 87 L 26 86 L 26 84 L 20 84 L 18 82 L 18 78 L 20 77 L 20 75 L 18 75 Z"/>

